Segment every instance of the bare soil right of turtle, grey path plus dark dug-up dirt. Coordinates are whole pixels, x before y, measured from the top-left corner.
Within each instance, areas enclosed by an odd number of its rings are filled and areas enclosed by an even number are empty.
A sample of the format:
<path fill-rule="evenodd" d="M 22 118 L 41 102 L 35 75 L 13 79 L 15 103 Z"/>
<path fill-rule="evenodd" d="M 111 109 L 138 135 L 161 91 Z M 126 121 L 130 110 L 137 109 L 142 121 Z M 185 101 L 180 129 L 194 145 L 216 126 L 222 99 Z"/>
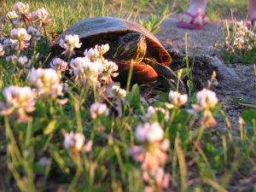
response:
<path fill-rule="evenodd" d="M 242 100 L 256 103 L 256 78 L 253 74 L 253 63 L 229 65 L 220 56 L 219 49 L 213 47 L 215 42 L 224 42 L 222 30 L 223 22 L 211 22 L 202 30 L 189 30 L 176 26 L 175 18 L 167 18 L 161 25 L 161 33 L 157 36 L 170 50 L 173 63 L 172 68 L 185 67 L 185 34 L 188 36 L 190 62 L 196 47 L 193 82 L 196 90 L 207 87 L 207 79 L 211 79 L 212 71 L 217 72 L 217 82 L 212 90 L 217 93 L 224 112 L 227 113 L 233 128 L 238 127 L 237 121 L 244 108 L 238 104 Z M 220 128 L 224 124 L 218 125 Z M 236 130 L 236 129 L 235 129 Z"/>

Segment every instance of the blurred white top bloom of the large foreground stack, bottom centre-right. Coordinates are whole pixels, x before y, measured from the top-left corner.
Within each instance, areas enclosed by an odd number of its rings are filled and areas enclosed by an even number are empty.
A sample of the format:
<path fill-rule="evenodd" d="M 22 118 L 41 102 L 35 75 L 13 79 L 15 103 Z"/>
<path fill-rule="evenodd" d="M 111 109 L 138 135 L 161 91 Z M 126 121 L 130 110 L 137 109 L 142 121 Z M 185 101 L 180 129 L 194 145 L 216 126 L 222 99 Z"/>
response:
<path fill-rule="evenodd" d="M 135 137 L 140 143 L 160 142 L 164 137 L 164 131 L 159 123 L 137 125 Z"/>

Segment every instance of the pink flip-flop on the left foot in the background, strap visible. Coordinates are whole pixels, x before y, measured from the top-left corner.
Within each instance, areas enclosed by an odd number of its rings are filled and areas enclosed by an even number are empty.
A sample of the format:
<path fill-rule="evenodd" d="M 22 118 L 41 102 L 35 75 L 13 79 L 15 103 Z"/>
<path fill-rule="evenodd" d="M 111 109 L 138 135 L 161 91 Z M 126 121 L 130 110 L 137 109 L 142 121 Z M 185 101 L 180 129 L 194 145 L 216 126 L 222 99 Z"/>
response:
<path fill-rule="evenodd" d="M 189 12 L 185 12 L 183 14 L 184 15 L 189 15 L 189 17 L 191 17 L 191 21 L 190 21 L 190 23 L 183 22 L 183 21 L 177 21 L 177 26 L 178 27 L 186 28 L 186 29 L 201 30 L 202 26 L 207 24 L 207 21 L 205 20 L 206 15 L 204 15 L 204 14 L 197 13 L 197 14 L 193 15 L 193 14 L 190 14 Z M 198 16 L 202 17 L 203 23 L 201 25 L 194 23 L 195 18 L 198 17 Z"/>

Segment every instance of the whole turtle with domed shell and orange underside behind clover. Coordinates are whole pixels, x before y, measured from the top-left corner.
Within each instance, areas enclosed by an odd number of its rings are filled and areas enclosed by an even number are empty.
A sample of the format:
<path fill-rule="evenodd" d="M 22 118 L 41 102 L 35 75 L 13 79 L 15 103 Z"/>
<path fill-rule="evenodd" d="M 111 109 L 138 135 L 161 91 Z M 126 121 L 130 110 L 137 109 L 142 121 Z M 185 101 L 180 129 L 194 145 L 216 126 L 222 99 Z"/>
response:
<path fill-rule="evenodd" d="M 81 50 L 109 44 L 104 57 L 118 64 L 120 81 L 127 79 L 132 65 L 132 82 L 150 84 L 160 79 L 167 89 L 176 88 L 178 84 L 179 90 L 185 91 L 183 81 L 178 80 L 169 67 L 171 55 L 151 32 L 135 21 L 114 17 L 80 20 L 55 40 L 55 51 L 60 52 L 61 38 L 70 34 L 79 35 L 83 43 Z"/>

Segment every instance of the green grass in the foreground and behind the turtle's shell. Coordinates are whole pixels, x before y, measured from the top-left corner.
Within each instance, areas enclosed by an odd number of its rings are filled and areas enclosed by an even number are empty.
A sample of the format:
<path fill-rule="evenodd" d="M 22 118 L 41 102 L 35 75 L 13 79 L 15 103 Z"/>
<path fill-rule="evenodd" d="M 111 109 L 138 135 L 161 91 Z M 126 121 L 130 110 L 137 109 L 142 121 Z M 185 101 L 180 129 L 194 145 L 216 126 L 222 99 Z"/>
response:
<path fill-rule="evenodd" d="M 1 13 L 11 10 L 13 3 L 8 1 L 3 4 Z M 138 14 L 147 12 L 147 9 L 154 14 L 159 13 L 160 9 L 155 6 L 166 1 L 29 3 L 33 9 L 44 7 L 49 11 L 49 18 L 53 20 L 47 31 L 55 37 L 76 21 L 96 15 L 132 17 L 136 20 Z M 224 1 L 224 6 L 229 3 L 239 9 L 245 6 L 245 1 Z M 209 9 L 214 10 L 218 6 L 218 1 L 214 0 Z M 226 9 L 224 6 L 220 7 L 220 15 Z M 118 10 L 115 14 L 112 14 L 113 8 Z M 134 12 L 130 12 L 131 8 Z M 171 9 L 177 8 L 184 10 L 185 3 L 177 1 L 171 5 Z M 9 29 L 6 29 L 5 33 L 8 32 Z M 38 52 L 45 58 L 49 52 L 45 39 L 39 45 Z M 38 63 L 35 65 L 38 67 Z M 191 71 L 189 64 L 186 70 L 187 73 Z M 27 123 L 19 124 L 15 119 L 0 116 L 1 191 L 56 191 L 61 187 L 67 191 L 143 191 L 142 170 L 127 151 L 137 144 L 134 136 L 136 126 L 147 121 L 159 122 L 165 131 L 165 138 L 171 142 L 164 166 L 165 172 L 172 177 L 170 190 L 232 191 L 233 185 L 241 190 L 240 181 L 252 177 L 250 172 L 256 167 L 255 110 L 244 110 L 241 113 L 244 123 L 231 127 L 218 105 L 212 108 L 212 113 L 222 122 L 219 124 L 221 127 L 207 128 L 198 124 L 201 114 L 196 116 L 187 112 L 195 103 L 195 92 L 190 93 L 189 103 L 184 108 L 172 109 L 166 108 L 168 96 L 163 92 L 154 96 L 151 105 L 165 108 L 172 118 L 166 121 L 163 113 L 154 113 L 150 119 L 144 120 L 142 117 L 148 105 L 142 99 L 145 93 L 135 84 L 122 102 L 121 116 L 117 115 L 114 103 L 108 101 L 110 115 L 91 119 L 90 104 L 97 96 L 92 96 L 90 90 L 79 89 L 71 81 L 67 82 L 67 104 L 62 106 L 56 100 L 38 99 L 36 110 L 30 113 L 32 119 Z M 12 84 L 31 86 L 26 77 L 17 78 L 13 66 L 0 57 L 0 92 Z M 4 102 L 2 94 L 0 101 Z M 77 153 L 63 147 L 63 135 L 70 131 L 82 132 L 86 142 L 93 141 L 90 153 Z M 254 184 L 256 189 L 255 183 L 248 183 L 247 186 L 249 184 Z"/>

